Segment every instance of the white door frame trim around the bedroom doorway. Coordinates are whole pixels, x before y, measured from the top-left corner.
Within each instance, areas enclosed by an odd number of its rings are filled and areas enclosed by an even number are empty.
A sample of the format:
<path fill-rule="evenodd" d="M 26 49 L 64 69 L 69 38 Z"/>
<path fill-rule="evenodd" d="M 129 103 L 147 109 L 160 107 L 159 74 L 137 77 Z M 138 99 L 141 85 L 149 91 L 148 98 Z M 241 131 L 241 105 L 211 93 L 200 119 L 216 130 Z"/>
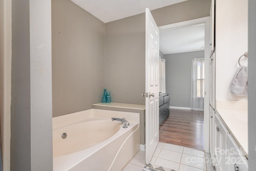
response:
<path fill-rule="evenodd" d="M 204 83 L 204 151 L 209 153 L 210 149 L 210 17 L 198 18 L 165 26 L 159 26 L 160 33 L 169 29 L 185 28 L 191 25 L 204 24 L 204 73 L 209 77 L 205 77 Z"/>

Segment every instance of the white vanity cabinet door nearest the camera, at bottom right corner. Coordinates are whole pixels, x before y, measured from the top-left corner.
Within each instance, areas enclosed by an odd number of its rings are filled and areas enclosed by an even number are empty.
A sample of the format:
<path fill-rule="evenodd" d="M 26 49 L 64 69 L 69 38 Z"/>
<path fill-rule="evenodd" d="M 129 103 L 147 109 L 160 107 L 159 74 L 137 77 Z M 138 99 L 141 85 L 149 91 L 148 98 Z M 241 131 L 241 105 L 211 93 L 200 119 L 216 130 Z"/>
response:
<path fill-rule="evenodd" d="M 226 171 L 248 171 L 248 160 L 230 134 L 228 134 L 226 153 Z"/>

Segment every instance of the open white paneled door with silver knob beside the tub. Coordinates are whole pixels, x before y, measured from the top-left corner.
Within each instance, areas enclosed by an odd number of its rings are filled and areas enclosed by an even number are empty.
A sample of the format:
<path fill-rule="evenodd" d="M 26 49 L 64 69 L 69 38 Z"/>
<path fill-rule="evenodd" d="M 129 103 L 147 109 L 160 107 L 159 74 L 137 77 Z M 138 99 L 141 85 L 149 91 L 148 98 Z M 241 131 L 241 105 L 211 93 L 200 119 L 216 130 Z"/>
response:
<path fill-rule="evenodd" d="M 159 29 L 146 8 L 146 164 L 159 142 Z"/>

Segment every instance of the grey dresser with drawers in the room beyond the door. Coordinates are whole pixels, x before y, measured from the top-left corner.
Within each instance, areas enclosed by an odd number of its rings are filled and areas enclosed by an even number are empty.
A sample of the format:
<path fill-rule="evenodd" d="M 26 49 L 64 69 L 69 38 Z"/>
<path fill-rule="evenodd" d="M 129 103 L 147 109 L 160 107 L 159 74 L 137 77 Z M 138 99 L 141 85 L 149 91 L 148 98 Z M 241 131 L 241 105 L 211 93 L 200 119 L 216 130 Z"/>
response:
<path fill-rule="evenodd" d="M 169 116 L 169 106 L 170 95 L 168 93 L 162 93 L 162 95 L 159 95 L 159 125 Z"/>

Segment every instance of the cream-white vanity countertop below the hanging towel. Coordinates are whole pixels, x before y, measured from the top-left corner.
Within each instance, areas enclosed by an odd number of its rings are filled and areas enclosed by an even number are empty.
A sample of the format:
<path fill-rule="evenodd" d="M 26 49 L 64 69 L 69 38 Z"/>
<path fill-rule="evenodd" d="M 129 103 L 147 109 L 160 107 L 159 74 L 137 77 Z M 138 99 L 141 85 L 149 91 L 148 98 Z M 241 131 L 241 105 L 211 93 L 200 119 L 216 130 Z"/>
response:
<path fill-rule="evenodd" d="M 232 109 L 216 109 L 225 122 L 230 134 L 241 145 L 248 156 L 248 111 Z"/>

